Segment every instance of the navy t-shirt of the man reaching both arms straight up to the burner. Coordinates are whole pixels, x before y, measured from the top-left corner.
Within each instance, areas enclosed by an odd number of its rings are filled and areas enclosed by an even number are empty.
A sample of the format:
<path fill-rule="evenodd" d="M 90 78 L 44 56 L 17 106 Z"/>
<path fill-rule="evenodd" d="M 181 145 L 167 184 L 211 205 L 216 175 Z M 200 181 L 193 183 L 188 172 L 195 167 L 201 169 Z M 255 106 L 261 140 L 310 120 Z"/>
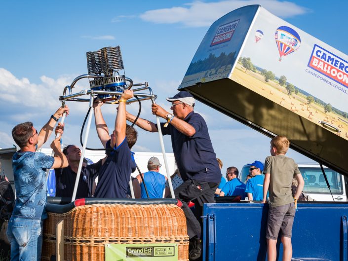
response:
<path fill-rule="evenodd" d="M 108 155 L 104 165 L 99 170 L 98 184 L 94 197 L 126 198 L 130 174 L 136 165 L 127 139 Z"/>

